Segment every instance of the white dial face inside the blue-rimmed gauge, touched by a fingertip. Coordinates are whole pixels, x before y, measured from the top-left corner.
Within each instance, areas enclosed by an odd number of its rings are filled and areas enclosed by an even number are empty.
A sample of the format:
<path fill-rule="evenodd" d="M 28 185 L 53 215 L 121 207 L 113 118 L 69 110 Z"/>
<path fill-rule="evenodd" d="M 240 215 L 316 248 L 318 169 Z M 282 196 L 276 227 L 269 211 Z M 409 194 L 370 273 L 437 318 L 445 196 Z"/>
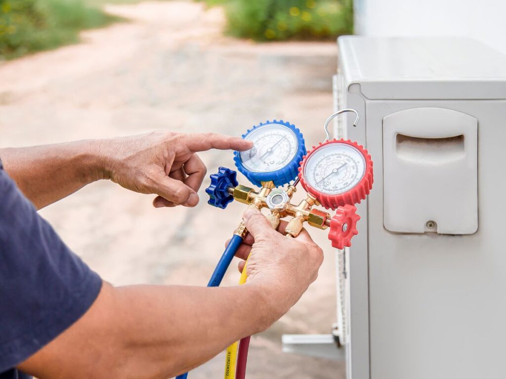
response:
<path fill-rule="evenodd" d="M 255 128 L 244 139 L 253 147 L 239 153 L 244 168 L 252 172 L 271 172 L 290 163 L 299 149 L 297 136 L 282 124 L 270 123 Z"/>

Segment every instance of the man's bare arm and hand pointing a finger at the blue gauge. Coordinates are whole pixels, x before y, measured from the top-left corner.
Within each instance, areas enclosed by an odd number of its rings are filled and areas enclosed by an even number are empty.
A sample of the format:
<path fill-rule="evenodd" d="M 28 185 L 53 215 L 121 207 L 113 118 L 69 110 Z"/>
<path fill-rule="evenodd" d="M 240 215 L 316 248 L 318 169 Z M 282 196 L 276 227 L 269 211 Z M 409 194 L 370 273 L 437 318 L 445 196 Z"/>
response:
<path fill-rule="evenodd" d="M 197 191 L 206 173 L 196 152 L 249 148 L 251 142 L 239 137 L 158 131 L 1 149 L 0 158 L 9 176 L 37 209 L 99 179 L 111 179 L 142 194 L 155 194 L 155 207 L 193 207 L 198 203 Z"/>

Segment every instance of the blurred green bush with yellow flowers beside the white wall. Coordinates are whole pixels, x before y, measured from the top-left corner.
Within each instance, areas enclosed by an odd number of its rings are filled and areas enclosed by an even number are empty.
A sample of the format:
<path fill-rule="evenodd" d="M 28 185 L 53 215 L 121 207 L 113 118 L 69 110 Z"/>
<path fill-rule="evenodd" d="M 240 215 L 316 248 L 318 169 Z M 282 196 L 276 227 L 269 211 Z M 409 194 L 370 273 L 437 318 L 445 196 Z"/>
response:
<path fill-rule="evenodd" d="M 255 40 L 328 39 L 353 33 L 352 0 L 205 0 L 223 4 L 230 35 Z"/>

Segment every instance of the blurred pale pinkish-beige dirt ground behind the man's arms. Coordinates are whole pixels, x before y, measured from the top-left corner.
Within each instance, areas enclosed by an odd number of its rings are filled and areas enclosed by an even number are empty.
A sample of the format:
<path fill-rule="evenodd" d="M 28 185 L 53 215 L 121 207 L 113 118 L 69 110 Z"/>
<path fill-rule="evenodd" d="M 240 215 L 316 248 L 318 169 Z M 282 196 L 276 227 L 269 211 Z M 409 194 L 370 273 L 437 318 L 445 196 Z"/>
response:
<path fill-rule="evenodd" d="M 332 111 L 334 43 L 256 44 L 222 35 L 219 8 L 201 3 L 108 6 L 129 22 L 82 34 L 83 43 L 0 65 L 0 146 L 16 147 L 141 133 L 153 129 L 240 135 L 284 119 L 307 147 L 324 137 Z M 233 167 L 232 153 L 201 154 L 208 172 Z M 240 182 L 247 184 L 241 177 Z M 154 209 L 152 197 L 97 182 L 40 211 L 67 244 L 114 285 L 204 286 L 243 206 L 225 211 Z M 300 191 L 303 192 L 303 191 Z M 298 194 L 299 197 L 302 194 Z M 252 338 L 248 377 L 343 378 L 344 363 L 281 352 L 284 333 L 329 333 L 335 321 L 334 252 L 326 232 L 317 281 L 288 314 Z M 234 285 L 235 269 L 224 285 Z M 223 375 L 223 354 L 192 379 Z"/>

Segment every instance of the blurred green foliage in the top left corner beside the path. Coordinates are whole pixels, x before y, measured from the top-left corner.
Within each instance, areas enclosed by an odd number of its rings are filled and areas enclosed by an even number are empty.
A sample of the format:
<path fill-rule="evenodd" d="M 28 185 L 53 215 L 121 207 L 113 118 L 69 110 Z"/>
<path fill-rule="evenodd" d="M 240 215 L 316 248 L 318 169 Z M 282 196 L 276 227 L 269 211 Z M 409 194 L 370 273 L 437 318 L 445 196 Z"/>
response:
<path fill-rule="evenodd" d="M 83 0 L 0 0 L 0 59 L 75 42 L 80 30 L 114 20 Z"/>

